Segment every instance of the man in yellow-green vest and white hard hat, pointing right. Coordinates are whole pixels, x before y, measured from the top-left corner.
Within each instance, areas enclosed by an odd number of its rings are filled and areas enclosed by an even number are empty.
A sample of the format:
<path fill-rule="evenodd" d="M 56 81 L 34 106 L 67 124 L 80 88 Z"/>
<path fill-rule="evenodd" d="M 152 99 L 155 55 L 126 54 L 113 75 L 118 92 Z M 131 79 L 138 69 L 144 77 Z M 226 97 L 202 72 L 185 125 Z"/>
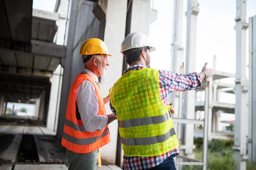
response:
<path fill-rule="evenodd" d="M 201 81 L 212 72 L 207 63 L 201 73 L 186 75 L 150 68 L 150 52 L 154 50 L 143 33 L 125 37 L 121 53 L 130 67 L 110 90 L 110 106 L 118 119 L 125 170 L 176 169 L 174 156 L 179 154 L 179 144 L 168 95 L 200 88 Z"/>

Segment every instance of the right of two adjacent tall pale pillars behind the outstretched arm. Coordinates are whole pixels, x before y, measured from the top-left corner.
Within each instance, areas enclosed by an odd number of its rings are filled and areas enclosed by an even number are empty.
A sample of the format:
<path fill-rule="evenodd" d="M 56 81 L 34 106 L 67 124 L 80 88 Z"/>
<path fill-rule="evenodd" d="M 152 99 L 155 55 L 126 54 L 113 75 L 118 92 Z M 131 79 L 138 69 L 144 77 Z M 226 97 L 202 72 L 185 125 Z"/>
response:
<path fill-rule="evenodd" d="M 197 33 L 197 15 L 198 15 L 198 3 L 197 0 L 187 1 L 187 32 L 186 32 L 186 69 L 185 74 L 195 72 L 196 61 L 196 33 Z M 184 92 L 184 118 L 195 119 L 195 91 Z M 193 145 L 194 145 L 194 125 L 184 125 L 186 145 L 185 153 L 187 156 L 194 157 Z"/>

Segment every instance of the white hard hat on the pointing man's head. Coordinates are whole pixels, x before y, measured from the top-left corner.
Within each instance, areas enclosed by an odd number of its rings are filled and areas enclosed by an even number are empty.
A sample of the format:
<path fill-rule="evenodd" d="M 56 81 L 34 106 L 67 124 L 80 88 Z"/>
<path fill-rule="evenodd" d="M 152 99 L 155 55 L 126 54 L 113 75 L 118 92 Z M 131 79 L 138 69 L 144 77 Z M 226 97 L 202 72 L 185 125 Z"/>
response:
<path fill-rule="evenodd" d="M 148 37 L 145 34 L 141 32 L 130 33 L 122 41 L 120 53 L 132 48 L 141 48 L 141 47 L 150 47 L 150 52 L 156 50 L 156 48 L 150 45 Z"/>

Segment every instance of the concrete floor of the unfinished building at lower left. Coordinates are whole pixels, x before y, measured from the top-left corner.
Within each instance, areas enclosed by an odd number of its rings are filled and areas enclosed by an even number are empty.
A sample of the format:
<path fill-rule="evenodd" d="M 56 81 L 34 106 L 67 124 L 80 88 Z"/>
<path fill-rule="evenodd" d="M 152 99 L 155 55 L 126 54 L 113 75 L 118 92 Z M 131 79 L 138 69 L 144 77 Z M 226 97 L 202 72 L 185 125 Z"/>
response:
<path fill-rule="evenodd" d="M 36 122 L 24 118 L 11 120 L 8 116 L 0 118 L 0 170 L 68 169 L 66 150 L 55 140 L 55 133 Z M 121 168 L 102 165 L 96 170 Z"/>

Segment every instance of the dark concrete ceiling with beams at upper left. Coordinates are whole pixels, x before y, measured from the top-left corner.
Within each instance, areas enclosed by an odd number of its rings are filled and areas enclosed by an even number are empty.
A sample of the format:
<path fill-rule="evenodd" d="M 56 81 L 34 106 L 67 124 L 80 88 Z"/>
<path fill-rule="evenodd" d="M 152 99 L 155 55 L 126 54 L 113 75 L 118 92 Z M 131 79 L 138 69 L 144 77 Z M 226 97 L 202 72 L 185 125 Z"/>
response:
<path fill-rule="evenodd" d="M 49 77 L 66 48 L 53 43 L 57 13 L 32 9 L 33 0 L 0 0 L 0 94 L 32 103 L 49 89 Z"/>

